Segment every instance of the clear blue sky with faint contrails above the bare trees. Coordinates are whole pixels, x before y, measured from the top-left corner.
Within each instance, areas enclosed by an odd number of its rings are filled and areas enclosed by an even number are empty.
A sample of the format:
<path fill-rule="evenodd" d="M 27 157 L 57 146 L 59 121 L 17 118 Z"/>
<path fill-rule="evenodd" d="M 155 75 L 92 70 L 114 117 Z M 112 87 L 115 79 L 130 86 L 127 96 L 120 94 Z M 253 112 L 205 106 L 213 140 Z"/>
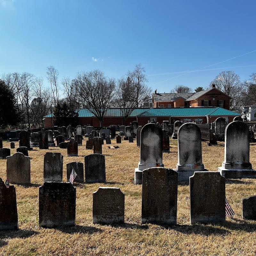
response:
<path fill-rule="evenodd" d="M 208 86 L 223 70 L 256 72 L 255 0 L 0 0 L 0 74 L 46 81 L 98 68 L 119 78 L 141 63 L 148 85 Z"/>

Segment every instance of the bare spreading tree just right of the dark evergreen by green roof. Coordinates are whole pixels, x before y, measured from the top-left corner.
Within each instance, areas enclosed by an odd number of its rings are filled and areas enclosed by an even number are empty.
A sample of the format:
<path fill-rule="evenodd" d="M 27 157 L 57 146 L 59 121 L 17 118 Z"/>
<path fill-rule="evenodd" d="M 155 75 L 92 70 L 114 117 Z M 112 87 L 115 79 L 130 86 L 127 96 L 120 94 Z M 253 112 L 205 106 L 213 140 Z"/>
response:
<path fill-rule="evenodd" d="M 102 126 L 106 112 L 113 98 L 116 82 L 105 74 L 94 69 L 89 72 L 81 71 L 76 74 L 82 107 L 87 108 L 100 121 Z"/>

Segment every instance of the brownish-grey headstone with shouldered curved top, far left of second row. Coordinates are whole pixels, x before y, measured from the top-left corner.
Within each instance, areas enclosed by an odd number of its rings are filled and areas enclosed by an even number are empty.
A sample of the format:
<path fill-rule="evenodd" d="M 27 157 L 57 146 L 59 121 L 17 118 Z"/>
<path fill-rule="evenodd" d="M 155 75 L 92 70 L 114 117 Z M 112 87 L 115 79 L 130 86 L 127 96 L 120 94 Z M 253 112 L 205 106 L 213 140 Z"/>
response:
<path fill-rule="evenodd" d="M 12 156 L 7 156 L 6 160 L 6 175 L 9 182 L 30 183 L 30 157 L 17 152 Z"/>

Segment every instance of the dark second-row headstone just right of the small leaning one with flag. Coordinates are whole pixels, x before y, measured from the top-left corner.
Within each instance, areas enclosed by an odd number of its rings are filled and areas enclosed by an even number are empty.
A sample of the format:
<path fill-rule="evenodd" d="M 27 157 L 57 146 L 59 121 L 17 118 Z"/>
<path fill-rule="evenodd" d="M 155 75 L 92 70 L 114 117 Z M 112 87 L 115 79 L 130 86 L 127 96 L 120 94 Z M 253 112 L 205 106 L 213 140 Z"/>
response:
<path fill-rule="evenodd" d="M 91 154 L 84 156 L 85 182 L 106 182 L 105 156 Z"/>

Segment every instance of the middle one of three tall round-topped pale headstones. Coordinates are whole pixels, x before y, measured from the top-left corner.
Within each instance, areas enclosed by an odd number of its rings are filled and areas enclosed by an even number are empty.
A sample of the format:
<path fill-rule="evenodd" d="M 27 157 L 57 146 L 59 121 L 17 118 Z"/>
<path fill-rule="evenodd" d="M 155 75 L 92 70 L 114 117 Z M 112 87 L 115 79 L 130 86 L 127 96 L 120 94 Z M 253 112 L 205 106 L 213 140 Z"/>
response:
<path fill-rule="evenodd" d="M 200 128 L 193 123 L 185 123 L 178 131 L 178 163 L 175 171 L 179 181 L 188 181 L 194 172 L 207 171 L 202 163 Z"/>

